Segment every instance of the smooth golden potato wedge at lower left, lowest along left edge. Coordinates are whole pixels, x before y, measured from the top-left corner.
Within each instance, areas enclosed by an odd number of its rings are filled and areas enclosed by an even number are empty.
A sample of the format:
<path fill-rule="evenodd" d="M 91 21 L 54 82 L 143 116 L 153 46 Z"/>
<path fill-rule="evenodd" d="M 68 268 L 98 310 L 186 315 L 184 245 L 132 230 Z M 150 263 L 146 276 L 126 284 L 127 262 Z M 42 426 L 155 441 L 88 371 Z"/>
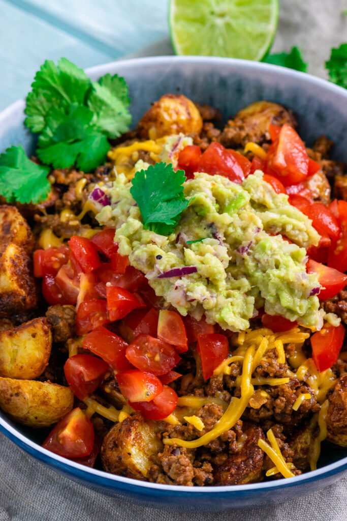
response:
<path fill-rule="evenodd" d="M 73 392 L 57 383 L 0 377 L 0 407 L 29 427 L 49 427 L 73 407 Z"/>

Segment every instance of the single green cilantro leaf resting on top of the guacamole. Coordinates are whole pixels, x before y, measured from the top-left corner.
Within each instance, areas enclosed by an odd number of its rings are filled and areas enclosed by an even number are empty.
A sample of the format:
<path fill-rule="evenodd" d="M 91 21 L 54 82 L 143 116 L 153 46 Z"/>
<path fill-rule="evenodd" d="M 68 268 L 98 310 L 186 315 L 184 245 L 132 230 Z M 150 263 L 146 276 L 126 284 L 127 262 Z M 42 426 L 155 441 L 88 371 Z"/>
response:
<path fill-rule="evenodd" d="M 169 235 L 178 224 L 181 213 L 189 204 L 183 194 L 186 180 L 183 170 L 156 163 L 136 172 L 130 193 L 144 222 L 144 228 L 160 235 Z"/>

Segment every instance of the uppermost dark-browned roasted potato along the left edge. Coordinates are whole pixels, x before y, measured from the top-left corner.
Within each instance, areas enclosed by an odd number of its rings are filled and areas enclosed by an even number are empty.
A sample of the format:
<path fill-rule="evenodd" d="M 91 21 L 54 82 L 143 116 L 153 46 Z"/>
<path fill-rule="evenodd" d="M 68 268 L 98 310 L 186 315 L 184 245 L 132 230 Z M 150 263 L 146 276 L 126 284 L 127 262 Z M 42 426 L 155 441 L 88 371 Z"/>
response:
<path fill-rule="evenodd" d="M 34 237 L 27 221 L 15 206 L 0 206 L 0 247 L 13 242 L 31 253 Z"/>

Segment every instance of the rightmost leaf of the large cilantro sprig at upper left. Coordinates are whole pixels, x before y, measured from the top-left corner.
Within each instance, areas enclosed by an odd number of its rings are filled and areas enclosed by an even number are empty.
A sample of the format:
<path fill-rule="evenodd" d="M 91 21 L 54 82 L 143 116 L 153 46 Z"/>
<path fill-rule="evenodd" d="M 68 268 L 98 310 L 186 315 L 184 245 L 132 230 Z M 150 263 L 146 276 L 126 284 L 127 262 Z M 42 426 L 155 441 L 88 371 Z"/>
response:
<path fill-rule="evenodd" d="M 118 138 L 131 123 L 127 84 L 117 74 L 107 74 L 92 86 L 87 103 L 95 114 L 94 122 L 109 138 Z"/>

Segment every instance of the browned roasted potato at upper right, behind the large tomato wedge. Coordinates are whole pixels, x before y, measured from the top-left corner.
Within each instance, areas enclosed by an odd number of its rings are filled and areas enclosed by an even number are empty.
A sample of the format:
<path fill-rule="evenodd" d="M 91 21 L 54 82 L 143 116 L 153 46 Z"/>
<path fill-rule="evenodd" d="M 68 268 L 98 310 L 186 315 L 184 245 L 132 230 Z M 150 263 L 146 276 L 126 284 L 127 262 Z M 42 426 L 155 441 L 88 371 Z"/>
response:
<path fill-rule="evenodd" d="M 245 147 L 250 141 L 263 144 L 271 141 L 269 125 L 295 127 L 293 115 L 281 105 L 268 101 L 257 101 L 240 110 L 225 126 L 219 141 L 227 148 Z"/>

